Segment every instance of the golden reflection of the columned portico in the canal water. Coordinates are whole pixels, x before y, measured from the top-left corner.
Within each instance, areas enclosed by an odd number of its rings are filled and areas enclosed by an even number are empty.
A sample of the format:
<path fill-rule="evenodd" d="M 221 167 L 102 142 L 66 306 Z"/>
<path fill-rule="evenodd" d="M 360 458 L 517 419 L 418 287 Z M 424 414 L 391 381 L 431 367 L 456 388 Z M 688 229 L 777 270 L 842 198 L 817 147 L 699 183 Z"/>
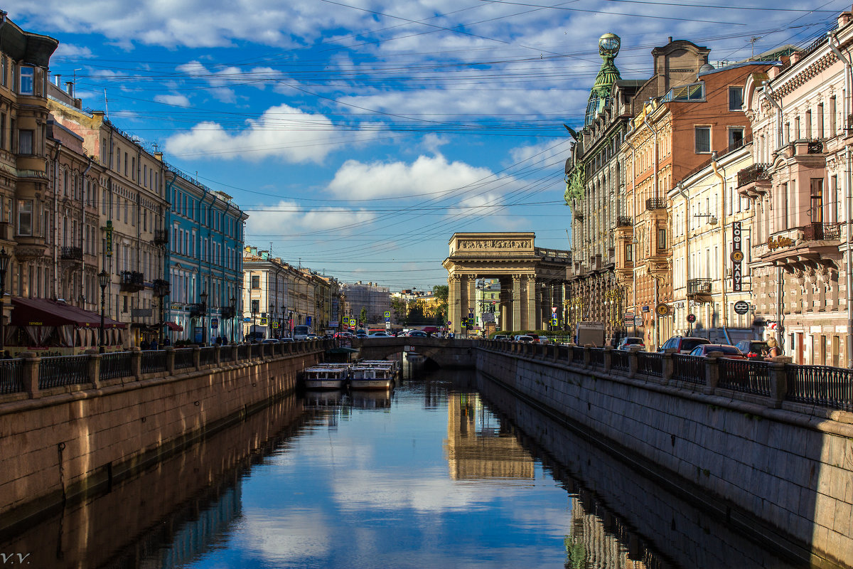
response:
<path fill-rule="evenodd" d="M 454 393 L 447 404 L 447 453 L 451 479 L 533 479 L 533 459 L 513 433 L 495 427 L 497 419 L 473 393 Z"/>

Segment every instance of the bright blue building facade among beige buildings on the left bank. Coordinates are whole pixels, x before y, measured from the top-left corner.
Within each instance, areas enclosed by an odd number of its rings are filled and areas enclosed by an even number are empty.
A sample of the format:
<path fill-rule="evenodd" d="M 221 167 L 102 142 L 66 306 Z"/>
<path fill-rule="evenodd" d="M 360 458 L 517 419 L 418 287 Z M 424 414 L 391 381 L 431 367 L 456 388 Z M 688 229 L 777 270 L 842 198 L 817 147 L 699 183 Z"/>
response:
<path fill-rule="evenodd" d="M 210 344 L 218 337 L 226 343 L 240 341 L 242 251 L 248 215 L 230 195 L 168 167 L 166 336 L 172 343 Z"/>

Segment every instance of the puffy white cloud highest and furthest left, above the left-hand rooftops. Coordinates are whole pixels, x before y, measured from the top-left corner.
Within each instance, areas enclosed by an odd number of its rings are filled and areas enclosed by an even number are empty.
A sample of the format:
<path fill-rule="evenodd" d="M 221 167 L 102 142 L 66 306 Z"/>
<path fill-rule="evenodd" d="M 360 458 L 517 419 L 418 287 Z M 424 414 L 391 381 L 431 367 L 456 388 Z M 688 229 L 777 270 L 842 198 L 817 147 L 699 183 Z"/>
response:
<path fill-rule="evenodd" d="M 235 132 L 226 131 L 218 123 L 200 123 L 189 132 L 171 136 L 166 149 L 183 157 L 216 160 L 275 158 L 290 163 L 321 163 L 345 142 L 351 140 L 340 140 L 332 121 L 322 114 L 279 105 L 267 109 L 258 119 L 247 120 L 246 128 Z"/>

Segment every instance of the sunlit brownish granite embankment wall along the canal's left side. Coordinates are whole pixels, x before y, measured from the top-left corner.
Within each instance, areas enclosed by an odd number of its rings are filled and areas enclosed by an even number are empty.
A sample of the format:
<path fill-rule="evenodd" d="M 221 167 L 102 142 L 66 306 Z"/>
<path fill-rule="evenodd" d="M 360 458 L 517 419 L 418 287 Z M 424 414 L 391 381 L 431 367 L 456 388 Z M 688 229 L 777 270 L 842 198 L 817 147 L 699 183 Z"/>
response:
<path fill-rule="evenodd" d="M 148 374 L 141 372 L 137 352 L 129 377 L 29 389 L 29 398 L 0 397 L 0 531 L 241 421 L 292 392 L 297 374 L 320 361 L 326 346 L 306 344 L 287 353 L 260 347 L 245 354 L 244 347 L 240 357 L 235 346 L 231 361 L 216 357 L 208 363 L 200 363 L 196 349 L 194 365 L 186 369 L 174 369 L 170 354 L 171 372 Z M 94 363 L 100 356 L 90 358 Z M 38 359 L 26 361 L 25 384 L 38 383 Z"/>

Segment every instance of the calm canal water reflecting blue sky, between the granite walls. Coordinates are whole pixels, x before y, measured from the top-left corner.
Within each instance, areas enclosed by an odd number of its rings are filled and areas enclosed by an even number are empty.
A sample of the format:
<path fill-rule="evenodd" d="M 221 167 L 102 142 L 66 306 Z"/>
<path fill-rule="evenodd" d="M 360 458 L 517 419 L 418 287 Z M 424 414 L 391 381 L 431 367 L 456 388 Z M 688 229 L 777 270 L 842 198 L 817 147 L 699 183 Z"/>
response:
<path fill-rule="evenodd" d="M 277 401 L 0 554 L 32 568 L 798 566 L 482 377 L 417 370 L 388 393 Z"/>

